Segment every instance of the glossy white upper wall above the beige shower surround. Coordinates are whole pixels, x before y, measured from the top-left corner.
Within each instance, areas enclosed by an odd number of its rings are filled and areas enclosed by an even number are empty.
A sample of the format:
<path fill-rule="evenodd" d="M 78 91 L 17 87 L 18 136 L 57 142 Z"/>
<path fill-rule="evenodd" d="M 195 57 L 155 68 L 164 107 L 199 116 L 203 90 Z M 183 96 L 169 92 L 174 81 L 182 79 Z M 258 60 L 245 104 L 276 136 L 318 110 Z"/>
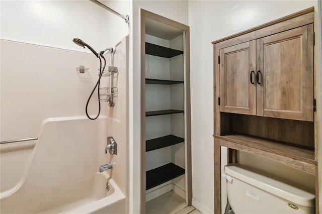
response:
<path fill-rule="evenodd" d="M 130 1 L 101 1 L 131 15 Z M 129 33 L 125 21 L 90 1 L 1 1 L 1 38 L 91 53 L 72 42 L 79 38 L 97 52 Z"/>

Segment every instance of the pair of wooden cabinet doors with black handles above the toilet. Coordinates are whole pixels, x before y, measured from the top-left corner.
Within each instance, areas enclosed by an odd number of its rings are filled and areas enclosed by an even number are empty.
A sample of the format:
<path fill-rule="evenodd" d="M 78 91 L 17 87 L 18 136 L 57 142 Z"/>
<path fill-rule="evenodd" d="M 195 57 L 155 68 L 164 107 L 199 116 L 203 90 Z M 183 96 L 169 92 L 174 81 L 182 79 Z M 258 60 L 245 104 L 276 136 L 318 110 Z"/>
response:
<path fill-rule="evenodd" d="M 313 121 L 313 24 L 223 47 L 220 112 Z"/>

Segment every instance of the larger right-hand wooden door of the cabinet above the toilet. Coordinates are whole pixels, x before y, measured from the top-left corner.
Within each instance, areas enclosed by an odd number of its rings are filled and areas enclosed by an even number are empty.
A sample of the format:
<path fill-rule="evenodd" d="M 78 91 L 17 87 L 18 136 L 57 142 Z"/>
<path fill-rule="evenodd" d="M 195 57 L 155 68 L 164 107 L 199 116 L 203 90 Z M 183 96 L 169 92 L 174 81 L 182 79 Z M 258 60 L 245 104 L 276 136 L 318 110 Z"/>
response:
<path fill-rule="evenodd" d="M 257 40 L 257 115 L 313 121 L 313 24 Z"/>

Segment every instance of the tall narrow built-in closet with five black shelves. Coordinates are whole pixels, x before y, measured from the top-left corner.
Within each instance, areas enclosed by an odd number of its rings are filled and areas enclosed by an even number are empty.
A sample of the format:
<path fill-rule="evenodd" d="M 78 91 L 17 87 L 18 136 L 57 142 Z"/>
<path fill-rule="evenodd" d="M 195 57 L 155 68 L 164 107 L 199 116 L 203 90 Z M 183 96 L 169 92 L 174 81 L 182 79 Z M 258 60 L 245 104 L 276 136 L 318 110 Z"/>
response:
<path fill-rule="evenodd" d="M 187 100 L 190 99 L 186 93 L 189 82 L 184 81 L 187 79 L 184 65 L 187 45 L 183 33 L 189 28 L 146 11 L 144 14 L 153 17 L 145 18 L 141 40 L 144 44 L 141 46 L 144 79 L 141 80 L 142 104 L 145 106 L 145 117 L 142 117 L 145 200 L 173 190 L 189 204 L 190 194 L 186 191 L 190 185 L 187 180 L 187 166 L 190 166 L 190 160 L 187 160 L 190 158 L 190 133 L 187 133 L 190 131 L 190 122 L 187 125 L 190 107 L 187 108 Z M 177 27 L 172 27 L 172 23 Z"/>

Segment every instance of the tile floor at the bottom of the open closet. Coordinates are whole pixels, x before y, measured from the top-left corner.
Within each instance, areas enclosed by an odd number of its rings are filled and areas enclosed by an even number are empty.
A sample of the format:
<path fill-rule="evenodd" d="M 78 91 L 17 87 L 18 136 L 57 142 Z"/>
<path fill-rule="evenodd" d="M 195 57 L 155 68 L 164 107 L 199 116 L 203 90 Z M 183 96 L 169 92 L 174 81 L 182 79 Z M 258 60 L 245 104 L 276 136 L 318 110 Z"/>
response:
<path fill-rule="evenodd" d="M 201 214 L 174 191 L 167 192 L 146 202 L 146 214 Z"/>

